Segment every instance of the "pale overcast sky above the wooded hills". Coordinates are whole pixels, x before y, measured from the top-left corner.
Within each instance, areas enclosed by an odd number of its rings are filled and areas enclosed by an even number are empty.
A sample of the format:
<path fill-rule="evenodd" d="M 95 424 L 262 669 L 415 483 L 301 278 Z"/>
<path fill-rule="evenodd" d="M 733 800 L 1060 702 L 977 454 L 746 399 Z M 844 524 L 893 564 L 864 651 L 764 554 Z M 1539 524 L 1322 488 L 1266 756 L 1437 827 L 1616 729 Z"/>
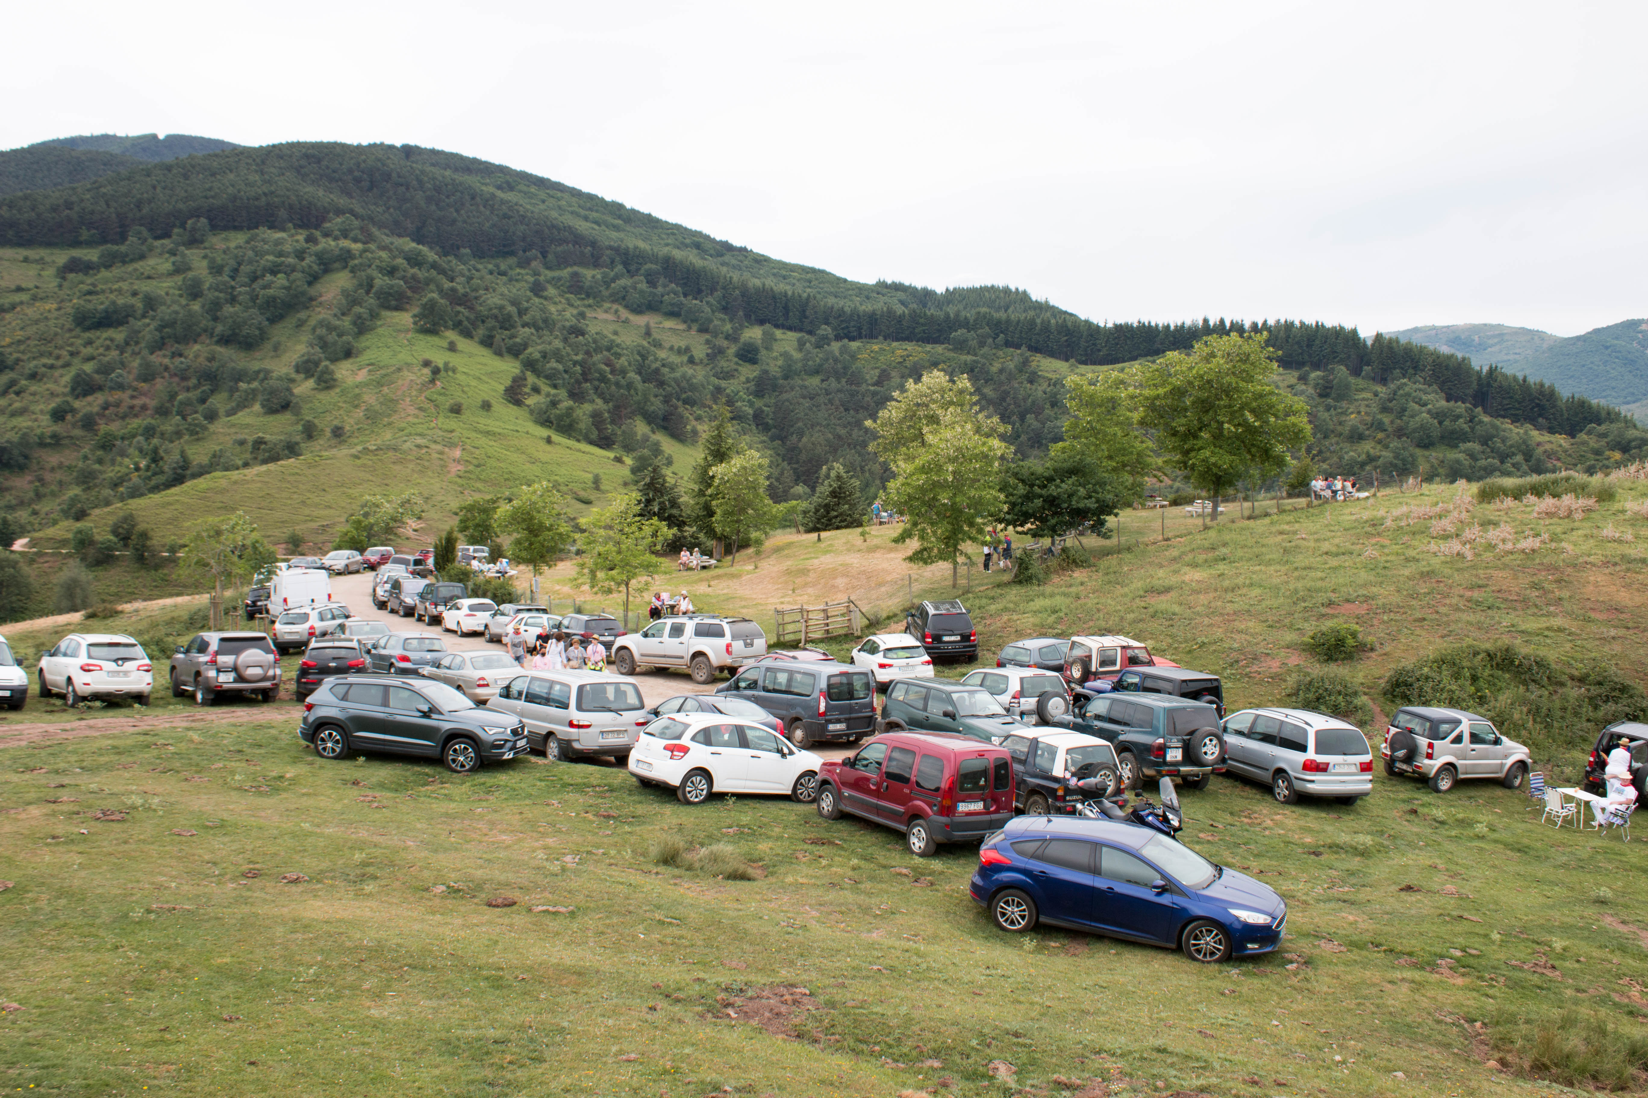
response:
<path fill-rule="evenodd" d="M 1648 5 L 15 5 L 0 148 L 417 143 L 1093 319 L 1648 314 Z"/>

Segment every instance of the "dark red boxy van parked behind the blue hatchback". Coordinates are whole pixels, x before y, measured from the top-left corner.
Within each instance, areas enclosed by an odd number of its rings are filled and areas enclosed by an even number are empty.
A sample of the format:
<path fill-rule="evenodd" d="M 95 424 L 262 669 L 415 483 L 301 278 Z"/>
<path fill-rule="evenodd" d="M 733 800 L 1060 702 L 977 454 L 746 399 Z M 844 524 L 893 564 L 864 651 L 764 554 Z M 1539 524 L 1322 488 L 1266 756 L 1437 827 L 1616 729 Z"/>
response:
<path fill-rule="evenodd" d="M 819 767 L 819 815 L 850 813 L 905 833 L 910 853 L 977 843 L 1014 818 L 1005 747 L 951 733 L 885 733 Z"/>

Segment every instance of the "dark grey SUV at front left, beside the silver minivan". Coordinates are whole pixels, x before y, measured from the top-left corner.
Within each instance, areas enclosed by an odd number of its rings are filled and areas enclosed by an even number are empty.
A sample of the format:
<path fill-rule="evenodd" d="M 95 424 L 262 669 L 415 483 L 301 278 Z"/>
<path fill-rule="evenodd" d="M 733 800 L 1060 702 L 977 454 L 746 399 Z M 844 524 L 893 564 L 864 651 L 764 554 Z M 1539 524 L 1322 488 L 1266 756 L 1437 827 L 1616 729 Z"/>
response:
<path fill-rule="evenodd" d="M 382 751 L 440 759 L 453 774 L 524 756 L 526 729 L 445 683 L 387 675 L 328 678 L 303 703 L 298 736 L 321 759 Z"/>

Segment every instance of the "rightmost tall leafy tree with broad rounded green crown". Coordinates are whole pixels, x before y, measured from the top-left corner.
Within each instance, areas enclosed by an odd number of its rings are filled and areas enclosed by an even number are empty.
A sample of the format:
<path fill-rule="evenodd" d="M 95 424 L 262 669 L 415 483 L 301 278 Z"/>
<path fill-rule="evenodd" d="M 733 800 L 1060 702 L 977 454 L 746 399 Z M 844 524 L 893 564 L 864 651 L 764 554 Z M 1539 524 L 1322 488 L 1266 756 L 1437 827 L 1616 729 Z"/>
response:
<path fill-rule="evenodd" d="M 1163 456 L 1213 497 L 1249 476 L 1272 476 L 1310 441 L 1305 403 L 1276 385 L 1264 333 L 1208 336 L 1139 367 L 1139 421 Z"/>

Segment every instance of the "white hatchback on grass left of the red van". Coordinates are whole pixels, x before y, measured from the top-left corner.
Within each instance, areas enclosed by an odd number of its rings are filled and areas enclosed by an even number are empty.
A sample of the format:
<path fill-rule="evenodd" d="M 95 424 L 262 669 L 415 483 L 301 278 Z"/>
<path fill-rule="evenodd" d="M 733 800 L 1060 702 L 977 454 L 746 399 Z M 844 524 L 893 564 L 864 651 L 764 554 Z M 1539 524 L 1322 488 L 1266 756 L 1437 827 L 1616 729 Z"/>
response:
<path fill-rule="evenodd" d="M 672 789 L 684 805 L 702 805 L 714 793 L 783 793 L 812 803 L 821 762 L 770 728 L 720 713 L 661 716 L 630 751 L 634 780 Z"/>

